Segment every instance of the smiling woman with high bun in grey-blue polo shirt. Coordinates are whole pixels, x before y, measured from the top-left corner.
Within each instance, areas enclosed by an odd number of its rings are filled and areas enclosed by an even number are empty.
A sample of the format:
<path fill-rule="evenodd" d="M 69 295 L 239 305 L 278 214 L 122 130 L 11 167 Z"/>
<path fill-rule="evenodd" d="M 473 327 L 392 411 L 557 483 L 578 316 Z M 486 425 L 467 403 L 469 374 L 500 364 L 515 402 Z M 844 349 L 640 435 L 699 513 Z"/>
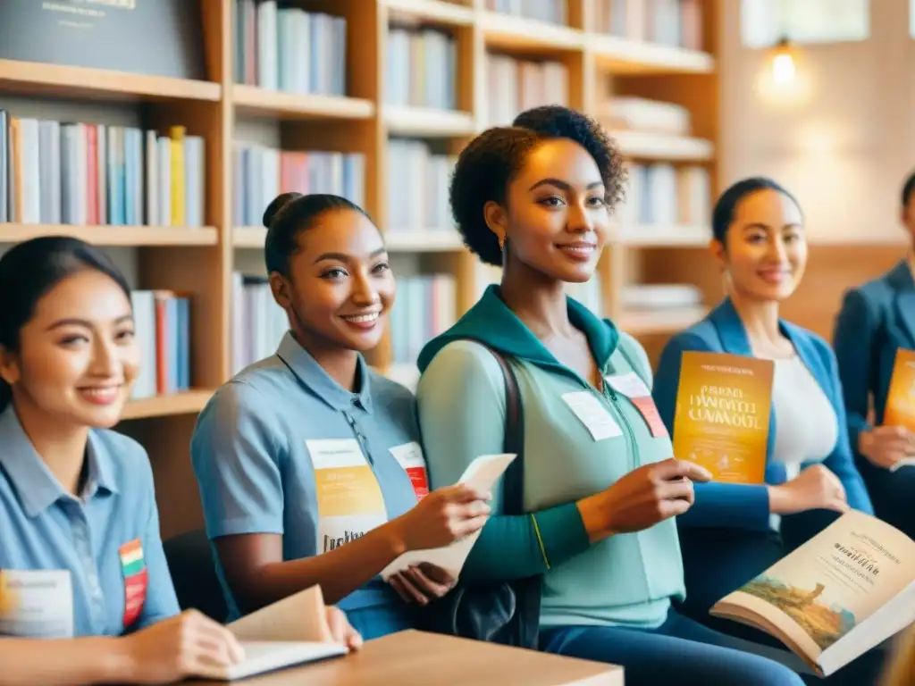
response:
<path fill-rule="evenodd" d="M 453 579 L 408 550 L 485 522 L 488 494 L 427 493 L 414 397 L 361 351 L 382 338 L 394 280 L 382 235 L 349 200 L 284 194 L 264 212 L 265 260 L 290 330 L 199 415 L 191 456 L 231 616 L 319 584 L 365 638 L 416 626 Z"/>

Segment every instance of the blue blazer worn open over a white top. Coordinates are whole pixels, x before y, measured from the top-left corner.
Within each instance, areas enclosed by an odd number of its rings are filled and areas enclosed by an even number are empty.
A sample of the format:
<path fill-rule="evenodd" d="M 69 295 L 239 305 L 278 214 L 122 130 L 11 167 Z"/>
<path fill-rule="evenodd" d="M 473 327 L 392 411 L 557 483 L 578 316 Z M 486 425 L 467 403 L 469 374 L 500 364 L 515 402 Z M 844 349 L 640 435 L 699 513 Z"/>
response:
<path fill-rule="evenodd" d="M 851 445 L 848 443 L 845 402 L 833 350 L 812 331 L 784 320 L 780 320 L 779 325 L 813 378 L 823 388 L 838 419 L 838 438 L 833 451 L 823 460 L 823 466 L 842 481 L 848 504 L 853 509 L 873 514 L 867 488 L 856 469 Z M 652 396 L 664 425 L 672 436 L 673 414 L 680 383 L 680 360 L 683 353 L 689 350 L 752 355 L 747 330 L 729 298 L 717 305 L 705 319 L 673 336 L 664 347 L 654 377 Z M 787 479 L 785 466 L 772 459 L 776 422 L 775 409 L 772 408 L 765 477 L 766 483 L 770 485 L 782 484 Z M 804 463 L 802 468 L 810 464 L 813 463 Z M 766 531 L 770 527 L 769 491 L 764 485 L 720 482 L 696 484 L 694 506 L 678 521 L 681 526 Z"/>

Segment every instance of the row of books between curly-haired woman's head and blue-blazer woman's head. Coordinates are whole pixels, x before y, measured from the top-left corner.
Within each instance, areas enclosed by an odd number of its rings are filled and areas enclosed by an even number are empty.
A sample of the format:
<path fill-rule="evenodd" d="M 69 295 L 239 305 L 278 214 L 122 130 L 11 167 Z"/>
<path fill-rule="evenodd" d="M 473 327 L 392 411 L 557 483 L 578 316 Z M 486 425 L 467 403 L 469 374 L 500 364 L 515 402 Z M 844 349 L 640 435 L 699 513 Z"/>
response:
<path fill-rule="evenodd" d="M 626 198 L 615 215 L 622 226 L 708 225 L 711 198 L 711 180 L 704 166 L 631 164 Z"/>

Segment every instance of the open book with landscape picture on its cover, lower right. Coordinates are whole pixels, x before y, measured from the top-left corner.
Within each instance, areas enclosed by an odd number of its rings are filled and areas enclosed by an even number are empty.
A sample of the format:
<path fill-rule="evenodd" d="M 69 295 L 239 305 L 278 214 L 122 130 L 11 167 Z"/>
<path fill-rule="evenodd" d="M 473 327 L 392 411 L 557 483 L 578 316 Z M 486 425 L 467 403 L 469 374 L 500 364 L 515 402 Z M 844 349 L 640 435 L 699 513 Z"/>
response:
<path fill-rule="evenodd" d="M 719 600 L 829 676 L 915 621 L 915 541 L 851 510 Z"/>

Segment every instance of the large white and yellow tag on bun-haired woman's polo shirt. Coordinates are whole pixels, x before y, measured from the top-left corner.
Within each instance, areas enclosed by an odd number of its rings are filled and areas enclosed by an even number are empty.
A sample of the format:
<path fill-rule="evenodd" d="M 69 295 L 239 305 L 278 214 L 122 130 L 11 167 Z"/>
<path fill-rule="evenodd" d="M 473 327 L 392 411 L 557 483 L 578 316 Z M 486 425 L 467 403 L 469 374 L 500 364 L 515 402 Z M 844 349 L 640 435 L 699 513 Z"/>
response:
<path fill-rule="evenodd" d="M 355 438 L 306 441 L 315 467 L 318 552 L 361 538 L 388 520 L 382 489 Z"/>

